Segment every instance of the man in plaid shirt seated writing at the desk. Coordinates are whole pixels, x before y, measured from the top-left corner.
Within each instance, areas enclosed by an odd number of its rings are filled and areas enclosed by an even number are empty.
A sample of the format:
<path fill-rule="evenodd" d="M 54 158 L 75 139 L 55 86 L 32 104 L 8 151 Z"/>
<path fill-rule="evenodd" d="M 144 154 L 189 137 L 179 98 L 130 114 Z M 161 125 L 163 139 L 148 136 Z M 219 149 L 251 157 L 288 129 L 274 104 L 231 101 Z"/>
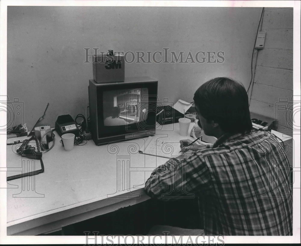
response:
<path fill-rule="evenodd" d="M 292 235 L 290 165 L 270 133 L 252 131 L 243 85 L 215 78 L 194 93 L 198 125 L 217 138 L 157 167 L 145 183 L 149 196 L 199 199 L 205 235 Z M 181 141 L 185 151 L 185 142 Z M 189 208 L 188 208 L 189 209 Z"/>

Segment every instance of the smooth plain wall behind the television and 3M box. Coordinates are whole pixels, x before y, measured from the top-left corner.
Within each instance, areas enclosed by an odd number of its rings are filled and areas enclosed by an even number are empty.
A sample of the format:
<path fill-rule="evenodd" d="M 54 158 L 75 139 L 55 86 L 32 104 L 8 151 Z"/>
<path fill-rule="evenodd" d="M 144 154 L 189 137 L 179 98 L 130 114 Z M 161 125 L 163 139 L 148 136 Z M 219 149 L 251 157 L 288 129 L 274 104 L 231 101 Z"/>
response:
<path fill-rule="evenodd" d="M 224 63 L 127 63 L 125 76 L 159 81 L 160 100 L 192 101 L 210 78 L 229 76 L 249 85 L 250 63 L 261 8 L 8 7 L 7 94 L 24 102 L 32 128 L 75 117 L 88 106 L 92 63 L 84 48 L 163 51 L 223 51 Z M 18 122 L 15 122 L 18 123 Z"/>

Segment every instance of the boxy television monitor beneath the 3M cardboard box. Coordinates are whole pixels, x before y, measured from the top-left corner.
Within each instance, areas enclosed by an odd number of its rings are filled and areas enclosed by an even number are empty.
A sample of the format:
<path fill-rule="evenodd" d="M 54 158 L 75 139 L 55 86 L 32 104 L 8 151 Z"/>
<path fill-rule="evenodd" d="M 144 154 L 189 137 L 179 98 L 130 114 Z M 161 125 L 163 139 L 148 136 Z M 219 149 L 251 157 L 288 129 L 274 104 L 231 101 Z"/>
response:
<path fill-rule="evenodd" d="M 96 145 L 155 134 L 158 81 L 149 77 L 124 82 L 89 81 L 90 130 Z"/>

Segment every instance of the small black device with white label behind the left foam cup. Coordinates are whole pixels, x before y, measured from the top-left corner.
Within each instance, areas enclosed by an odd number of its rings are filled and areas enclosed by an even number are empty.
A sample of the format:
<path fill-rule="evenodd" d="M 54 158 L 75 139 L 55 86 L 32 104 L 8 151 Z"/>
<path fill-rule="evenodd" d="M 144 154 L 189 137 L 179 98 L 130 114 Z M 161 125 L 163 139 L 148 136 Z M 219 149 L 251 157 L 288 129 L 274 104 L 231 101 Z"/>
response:
<path fill-rule="evenodd" d="M 73 133 L 75 136 L 79 134 L 79 129 L 71 115 L 60 115 L 55 122 L 55 131 L 62 136 L 65 133 Z"/>

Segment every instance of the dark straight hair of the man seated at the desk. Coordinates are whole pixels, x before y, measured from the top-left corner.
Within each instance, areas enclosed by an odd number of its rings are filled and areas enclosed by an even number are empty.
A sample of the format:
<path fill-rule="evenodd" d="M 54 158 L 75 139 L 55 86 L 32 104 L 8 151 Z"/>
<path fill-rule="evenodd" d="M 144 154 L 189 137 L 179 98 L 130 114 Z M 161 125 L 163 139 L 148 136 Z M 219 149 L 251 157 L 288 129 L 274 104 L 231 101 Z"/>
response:
<path fill-rule="evenodd" d="M 214 120 L 226 133 L 252 130 L 248 94 L 243 85 L 231 78 L 213 78 L 194 93 L 194 103 L 207 120 Z"/>

